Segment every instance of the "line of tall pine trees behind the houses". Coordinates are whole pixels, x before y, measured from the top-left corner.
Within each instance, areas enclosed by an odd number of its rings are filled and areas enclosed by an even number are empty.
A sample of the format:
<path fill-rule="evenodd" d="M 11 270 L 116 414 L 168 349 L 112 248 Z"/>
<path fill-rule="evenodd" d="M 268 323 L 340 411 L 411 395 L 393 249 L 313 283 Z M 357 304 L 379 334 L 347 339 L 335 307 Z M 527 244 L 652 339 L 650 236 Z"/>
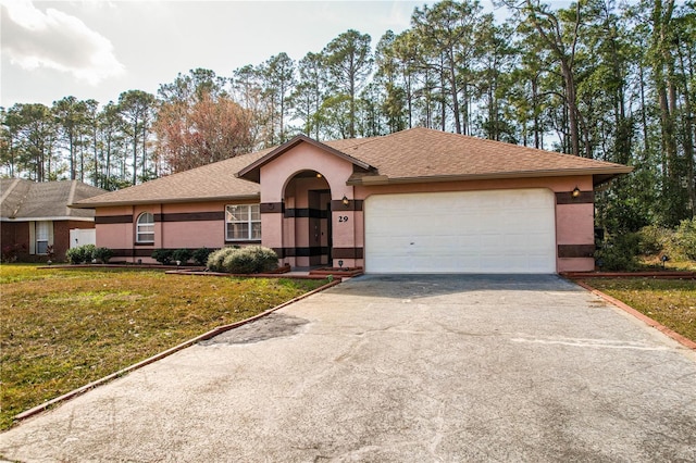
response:
<path fill-rule="evenodd" d="M 192 70 L 104 105 L 3 108 L 3 174 L 117 189 L 297 134 L 424 126 L 634 166 L 597 193 L 610 229 L 693 217 L 696 3 L 496 5 L 505 21 L 477 0 L 444 0 L 415 8 L 408 29 L 374 48 L 350 29 L 298 61 L 279 52 L 231 76 Z"/>

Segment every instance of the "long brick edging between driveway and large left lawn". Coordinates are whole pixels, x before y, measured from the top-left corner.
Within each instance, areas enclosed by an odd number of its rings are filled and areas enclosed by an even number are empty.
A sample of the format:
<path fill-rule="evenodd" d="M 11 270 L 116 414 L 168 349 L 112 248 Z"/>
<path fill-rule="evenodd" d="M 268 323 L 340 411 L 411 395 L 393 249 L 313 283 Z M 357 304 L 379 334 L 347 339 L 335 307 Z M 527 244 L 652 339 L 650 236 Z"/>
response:
<path fill-rule="evenodd" d="M 312 295 L 314 295 L 316 292 L 320 292 L 320 291 L 323 291 L 323 290 L 328 289 L 331 287 L 334 287 L 334 286 L 338 285 L 340 281 L 341 281 L 340 278 L 336 278 L 335 280 L 330 281 L 324 286 L 321 286 L 321 287 L 319 287 L 319 288 L 316 288 L 316 289 L 314 289 L 314 290 L 312 290 L 310 292 L 307 292 L 307 293 L 304 293 L 302 296 L 298 296 L 295 299 L 290 299 L 289 301 L 284 302 L 284 303 L 282 303 L 279 305 L 276 305 L 276 306 L 274 306 L 272 309 L 269 309 L 269 310 L 266 310 L 264 312 L 261 312 L 258 315 L 254 315 L 252 317 L 249 317 L 249 318 L 246 318 L 246 320 L 243 320 L 243 321 L 239 321 L 239 322 L 232 323 L 229 325 L 223 325 L 223 326 L 219 326 L 216 328 L 213 328 L 210 331 L 203 333 L 200 336 L 197 336 L 197 337 L 195 337 L 192 339 L 184 341 L 184 342 L 179 343 L 178 346 L 175 346 L 175 347 L 173 347 L 171 349 L 167 349 L 167 350 L 162 351 L 162 352 L 160 352 L 158 354 L 154 354 L 154 355 L 152 355 L 152 356 L 150 356 L 148 359 L 145 359 L 145 360 L 138 362 L 138 363 L 135 363 L 135 364 L 133 364 L 130 366 L 126 366 L 125 368 L 122 368 L 122 370 L 120 370 L 120 371 L 117 371 L 115 373 L 112 373 L 112 374 L 108 375 L 108 376 L 104 376 L 104 377 L 99 378 L 97 380 L 94 380 L 94 381 L 91 381 L 89 384 L 86 384 L 85 386 L 82 386 L 82 387 L 79 387 L 77 389 L 74 389 L 74 390 L 72 390 L 70 392 L 66 392 L 66 393 L 64 393 L 62 396 L 59 396 L 59 397 L 57 397 L 54 399 L 46 401 L 46 402 L 41 403 L 40 405 L 36 405 L 36 406 L 34 406 L 34 408 L 32 408 L 32 409 L 29 409 L 27 411 L 24 411 L 24 412 L 22 412 L 22 413 L 20 413 L 17 415 L 15 415 L 13 421 L 14 422 L 18 422 L 18 421 L 26 420 L 26 418 L 28 418 L 30 416 L 34 416 L 34 415 L 36 415 L 38 413 L 41 413 L 41 412 L 46 411 L 47 409 L 49 409 L 49 408 L 51 408 L 51 406 L 53 406 L 53 405 L 55 405 L 58 403 L 67 401 L 70 399 L 73 399 L 73 398 L 75 398 L 75 397 L 77 397 L 77 396 L 79 396 L 79 395 L 82 395 L 84 392 L 87 392 L 90 389 L 94 389 L 94 388 L 96 388 L 98 386 L 101 386 L 101 385 L 103 385 L 105 383 L 109 383 L 109 381 L 111 381 L 113 379 L 116 379 L 116 378 L 119 378 L 121 376 L 125 376 L 126 374 L 128 374 L 130 372 L 139 370 L 139 368 L 141 368 L 144 366 L 147 366 L 150 363 L 154 363 L 154 362 L 157 362 L 159 360 L 162 360 L 165 356 L 169 356 L 169 355 L 171 355 L 173 353 L 176 353 L 179 350 L 186 349 L 186 348 L 188 348 L 188 347 L 190 347 L 190 346 L 192 346 L 192 345 L 195 345 L 197 342 L 208 340 L 208 339 L 213 338 L 213 337 L 215 337 L 215 336 L 217 336 L 217 335 L 220 335 L 222 333 L 228 331 L 231 329 L 237 328 L 239 326 L 246 325 L 246 324 L 251 323 L 251 322 L 256 322 L 259 318 L 263 318 L 264 316 L 270 315 L 270 314 L 272 314 L 273 312 L 275 312 L 275 311 L 279 310 L 279 309 L 283 309 L 284 306 L 287 306 L 287 305 L 289 305 L 291 303 L 295 303 L 297 301 L 300 301 L 302 299 L 309 298 L 310 296 L 312 296 Z"/>

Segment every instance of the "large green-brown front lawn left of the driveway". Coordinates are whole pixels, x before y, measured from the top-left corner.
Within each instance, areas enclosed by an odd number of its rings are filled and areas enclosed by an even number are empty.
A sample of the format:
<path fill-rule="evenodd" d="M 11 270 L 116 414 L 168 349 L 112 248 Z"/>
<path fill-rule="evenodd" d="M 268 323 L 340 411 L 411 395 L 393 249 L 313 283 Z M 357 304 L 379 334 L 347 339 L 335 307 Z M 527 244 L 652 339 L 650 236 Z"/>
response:
<path fill-rule="evenodd" d="M 0 429 L 32 406 L 326 280 L 0 266 Z"/>

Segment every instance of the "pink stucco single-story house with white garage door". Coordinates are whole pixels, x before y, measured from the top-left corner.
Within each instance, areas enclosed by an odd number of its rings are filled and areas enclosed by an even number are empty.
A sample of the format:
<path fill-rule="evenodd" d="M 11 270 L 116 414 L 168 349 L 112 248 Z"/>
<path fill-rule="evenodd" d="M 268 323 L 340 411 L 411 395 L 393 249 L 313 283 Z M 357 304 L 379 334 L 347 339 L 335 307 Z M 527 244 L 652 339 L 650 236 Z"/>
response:
<path fill-rule="evenodd" d="M 594 268 L 594 190 L 624 165 L 413 128 L 320 142 L 297 136 L 77 201 L 97 246 L 259 243 L 293 266 L 368 273 L 556 273 Z"/>

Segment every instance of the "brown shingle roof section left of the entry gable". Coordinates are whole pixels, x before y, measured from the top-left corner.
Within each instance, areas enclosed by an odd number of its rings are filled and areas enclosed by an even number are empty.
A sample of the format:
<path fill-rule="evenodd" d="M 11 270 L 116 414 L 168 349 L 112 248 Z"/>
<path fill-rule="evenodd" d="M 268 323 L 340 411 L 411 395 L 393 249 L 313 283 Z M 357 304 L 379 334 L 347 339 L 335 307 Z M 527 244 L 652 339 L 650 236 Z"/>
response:
<path fill-rule="evenodd" d="M 237 178 L 235 174 L 270 151 L 238 155 L 157 178 L 141 185 L 76 202 L 73 208 L 258 198 L 260 195 L 259 185 Z"/>

